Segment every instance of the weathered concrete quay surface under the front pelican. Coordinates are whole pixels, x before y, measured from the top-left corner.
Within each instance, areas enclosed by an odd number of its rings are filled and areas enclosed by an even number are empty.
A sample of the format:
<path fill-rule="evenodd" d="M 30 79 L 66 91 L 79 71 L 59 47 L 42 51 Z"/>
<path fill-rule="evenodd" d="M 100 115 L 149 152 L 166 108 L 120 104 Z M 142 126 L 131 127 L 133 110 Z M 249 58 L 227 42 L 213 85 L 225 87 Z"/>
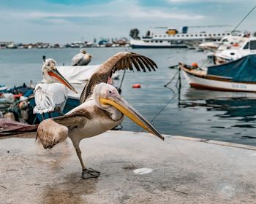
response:
<path fill-rule="evenodd" d="M 0 203 L 256 203 L 256 152 L 244 146 L 109 131 L 81 149 L 99 178 L 80 178 L 69 140 L 50 150 L 0 140 Z"/>

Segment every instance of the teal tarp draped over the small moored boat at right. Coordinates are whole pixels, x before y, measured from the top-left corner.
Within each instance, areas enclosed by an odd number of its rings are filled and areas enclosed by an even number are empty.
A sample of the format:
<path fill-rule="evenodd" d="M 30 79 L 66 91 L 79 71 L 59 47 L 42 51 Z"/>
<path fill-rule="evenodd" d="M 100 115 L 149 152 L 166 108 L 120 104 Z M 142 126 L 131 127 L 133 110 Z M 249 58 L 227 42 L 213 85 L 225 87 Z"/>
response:
<path fill-rule="evenodd" d="M 233 82 L 256 82 L 256 55 L 247 55 L 218 66 L 208 66 L 207 74 L 230 77 Z"/>

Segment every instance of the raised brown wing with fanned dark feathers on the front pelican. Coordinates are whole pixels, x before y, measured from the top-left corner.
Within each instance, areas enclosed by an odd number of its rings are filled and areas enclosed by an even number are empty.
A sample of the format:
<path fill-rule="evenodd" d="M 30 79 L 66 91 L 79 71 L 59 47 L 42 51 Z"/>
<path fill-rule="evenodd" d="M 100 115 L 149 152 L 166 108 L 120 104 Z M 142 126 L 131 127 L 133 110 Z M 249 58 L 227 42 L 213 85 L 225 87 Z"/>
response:
<path fill-rule="evenodd" d="M 157 64 L 153 60 L 134 52 L 118 52 L 111 58 L 102 63 L 99 69 L 94 72 L 89 82 L 83 88 L 80 95 L 80 103 L 86 101 L 93 93 L 94 87 L 100 82 L 107 83 L 115 71 L 129 69 L 131 71 L 156 71 Z"/>

